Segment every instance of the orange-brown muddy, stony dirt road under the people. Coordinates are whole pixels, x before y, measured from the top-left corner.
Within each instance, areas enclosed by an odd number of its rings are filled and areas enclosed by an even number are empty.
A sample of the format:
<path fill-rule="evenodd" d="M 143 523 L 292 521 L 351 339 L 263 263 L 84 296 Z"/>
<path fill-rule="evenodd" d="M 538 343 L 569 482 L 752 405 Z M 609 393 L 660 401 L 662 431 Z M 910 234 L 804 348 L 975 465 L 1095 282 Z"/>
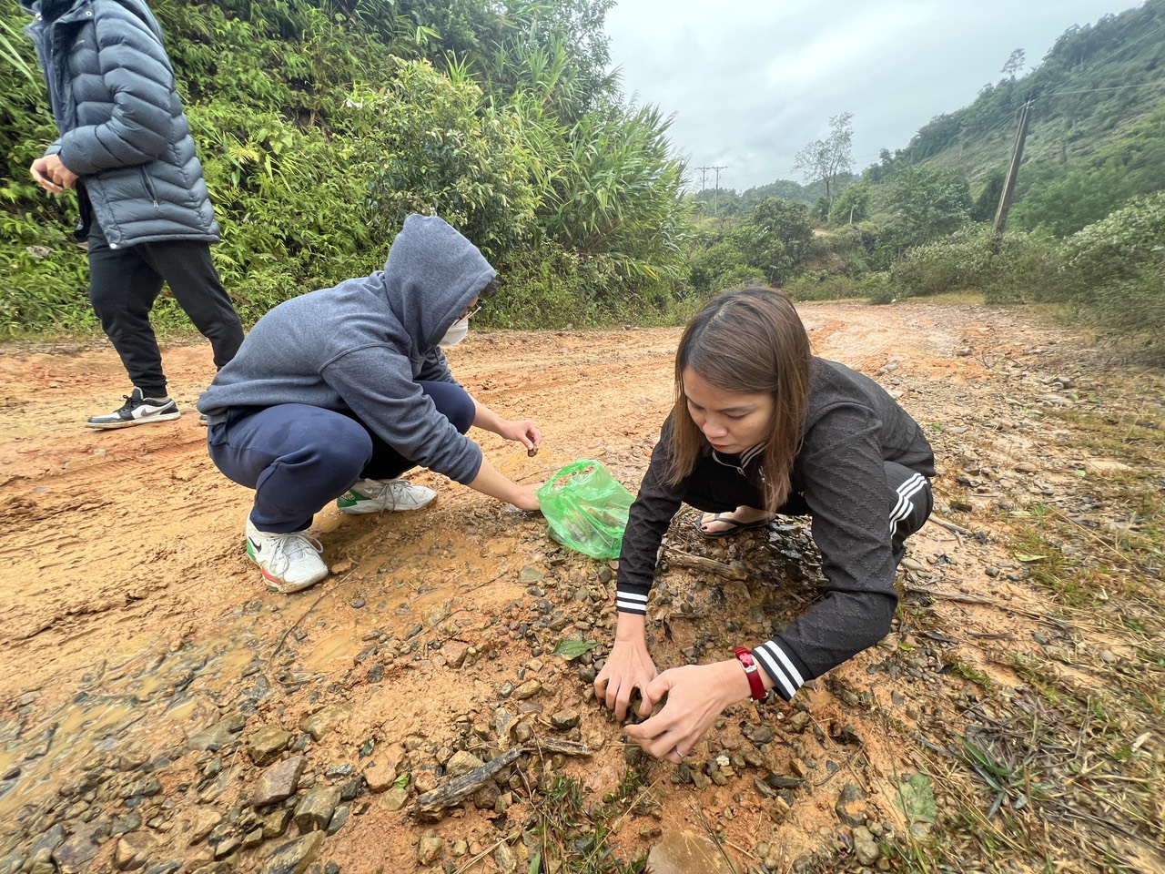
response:
<path fill-rule="evenodd" d="M 970 853 L 962 871 L 1165 871 L 1159 606 L 1118 579 L 1159 576 L 1121 538 L 1148 524 L 1130 478 L 1165 482 L 1144 468 L 1162 461 L 1160 379 L 1022 310 L 802 312 L 818 354 L 926 428 L 937 517 L 910 542 L 890 639 L 791 704 L 732 709 L 679 768 L 642 761 L 596 705 L 613 570 L 539 516 L 419 472 L 431 507 L 325 509 L 313 534 L 332 577 L 271 594 L 243 552 L 249 493 L 211 465 L 193 413 L 209 347 L 165 350 L 181 420 L 115 432 L 84 428 L 126 390 L 104 343 L 0 350 L 0 873 L 525 872 L 535 854 L 614 871 L 648 852 L 658 872 L 931 869 L 919 853 L 934 846 Z M 634 491 L 678 333 L 482 332 L 450 358 L 472 394 L 545 435 L 529 458 L 479 434 L 502 471 L 543 481 L 596 458 Z M 1122 457 L 1075 413 L 1131 416 L 1150 437 Z M 1017 542 L 1050 517 L 1083 534 Z M 763 640 L 820 586 L 800 521 L 708 541 L 691 520 L 654 595 L 661 668 Z M 1042 577 L 1048 547 L 1111 583 L 1103 598 Z M 567 658 L 563 641 L 599 646 Z M 1060 736 L 1047 688 L 1065 712 L 1100 702 L 1107 727 L 1062 754 L 1025 735 L 1014 720 L 1036 714 L 1023 725 Z M 517 747 L 442 819 L 415 809 Z M 1025 787 L 1032 762 L 1087 791 Z M 958 833 L 975 810 L 1004 836 L 980 851 Z M 711 855 L 669 867 L 677 847 Z"/>

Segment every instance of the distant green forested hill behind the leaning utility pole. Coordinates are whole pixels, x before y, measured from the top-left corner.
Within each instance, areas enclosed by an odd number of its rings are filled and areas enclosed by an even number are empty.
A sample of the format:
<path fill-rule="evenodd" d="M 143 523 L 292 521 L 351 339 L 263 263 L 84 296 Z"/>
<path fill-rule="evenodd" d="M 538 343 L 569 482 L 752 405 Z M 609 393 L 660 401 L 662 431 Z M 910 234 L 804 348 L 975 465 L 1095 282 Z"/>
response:
<path fill-rule="evenodd" d="M 869 177 L 944 167 L 968 179 L 981 212 L 994 211 L 1028 100 L 1012 226 L 1062 237 L 1165 189 L 1165 0 L 1071 27 L 1028 75 L 986 85 L 905 148 L 883 150 Z"/>

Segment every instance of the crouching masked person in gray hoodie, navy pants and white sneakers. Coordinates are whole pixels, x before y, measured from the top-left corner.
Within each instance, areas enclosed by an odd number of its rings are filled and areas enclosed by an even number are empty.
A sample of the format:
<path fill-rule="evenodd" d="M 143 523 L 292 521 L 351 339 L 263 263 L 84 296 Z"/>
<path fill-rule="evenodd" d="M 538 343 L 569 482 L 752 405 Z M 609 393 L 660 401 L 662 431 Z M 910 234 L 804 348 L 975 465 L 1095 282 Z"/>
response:
<path fill-rule="evenodd" d="M 471 425 L 542 442 L 453 379 L 442 353 L 465 337 L 496 273 L 444 220 L 409 216 L 383 270 L 294 297 L 264 315 L 198 401 L 211 458 L 255 489 L 247 555 L 268 587 L 297 592 L 327 576 L 304 534 L 337 500 L 344 513 L 417 509 L 436 493 L 400 479 L 415 466 L 537 510 L 465 436 Z"/>

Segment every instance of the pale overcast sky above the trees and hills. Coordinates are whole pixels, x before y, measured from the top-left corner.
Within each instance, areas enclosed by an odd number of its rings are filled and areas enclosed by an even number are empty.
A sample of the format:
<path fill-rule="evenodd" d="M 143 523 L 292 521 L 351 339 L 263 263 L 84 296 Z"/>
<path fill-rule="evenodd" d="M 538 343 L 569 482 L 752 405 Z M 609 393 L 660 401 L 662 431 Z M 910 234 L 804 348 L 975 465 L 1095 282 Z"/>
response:
<path fill-rule="evenodd" d="M 975 99 L 1015 49 L 1025 70 L 1072 24 L 1138 0 L 617 0 L 624 93 L 673 115 L 671 141 L 721 188 L 802 181 L 797 153 L 854 113 L 854 170 Z M 1022 72 L 1021 72 L 1022 75 Z M 714 175 L 708 174 L 708 185 Z"/>

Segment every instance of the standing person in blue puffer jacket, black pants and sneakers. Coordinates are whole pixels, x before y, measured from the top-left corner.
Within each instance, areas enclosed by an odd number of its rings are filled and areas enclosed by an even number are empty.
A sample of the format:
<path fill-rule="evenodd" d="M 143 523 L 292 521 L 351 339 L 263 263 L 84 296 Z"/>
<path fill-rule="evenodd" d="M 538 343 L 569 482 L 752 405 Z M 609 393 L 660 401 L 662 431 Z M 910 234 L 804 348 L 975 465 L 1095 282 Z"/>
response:
<path fill-rule="evenodd" d="M 219 226 L 162 30 L 142 0 L 21 6 L 61 132 L 33 178 L 51 193 L 77 189 L 90 301 L 133 382 L 125 406 L 87 424 L 177 418 L 149 322 L 163 282 L 211 341 L 216 367 L 234 357 L 242 324 L 211 261 Z"/>

